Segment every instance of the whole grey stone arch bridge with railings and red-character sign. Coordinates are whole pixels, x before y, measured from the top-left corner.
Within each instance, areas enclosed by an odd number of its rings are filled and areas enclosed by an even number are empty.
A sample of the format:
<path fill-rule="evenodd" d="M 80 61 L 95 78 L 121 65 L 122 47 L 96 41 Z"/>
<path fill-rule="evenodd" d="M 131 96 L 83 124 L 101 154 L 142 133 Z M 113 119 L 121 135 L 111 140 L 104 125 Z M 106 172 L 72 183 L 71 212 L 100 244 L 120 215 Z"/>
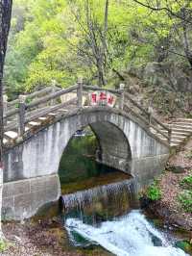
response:
<path fill-rule="evenodd" d="M 104 90 L 80 80 L 67 89 L 5 100 L 4 108 L 4 218 L 29 218 L 59 198 L 61 155 L 86 126 L 99 142 L 96 160 L 131 174 L 138 188 L 149 184 L 169 157 L 171 129 L 134 102 L 123 85 Z"/>

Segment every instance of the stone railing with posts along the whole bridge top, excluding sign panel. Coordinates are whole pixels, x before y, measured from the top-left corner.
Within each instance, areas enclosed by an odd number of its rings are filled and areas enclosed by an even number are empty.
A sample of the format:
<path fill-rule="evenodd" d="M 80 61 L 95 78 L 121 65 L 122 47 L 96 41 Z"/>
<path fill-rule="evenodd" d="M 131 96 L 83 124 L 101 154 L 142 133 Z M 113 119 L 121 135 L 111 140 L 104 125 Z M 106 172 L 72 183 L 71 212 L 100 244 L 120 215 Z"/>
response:
<path fill-rule="evenodd" d="M 106 91 L 116 96 L 115 107 L 125 112 L 131 112 L 138 117 L 149 128 L 153 128 L 162 138 L 170 142 L 171 129 L 162 124 L 151 113 L 146 111 L 137 102 L 132 100 L 129 93 L 125 92 L 124 85 L 120 85 L 119 90 L 102 89 L 96 86 L 86 86 L 83 80 L 68 89 L 59 89 L 56 87 L 38 90 L 28 95 L 20 95 L 18 99 L 4 103 L 4 127 L 5 132 L 17 130 L 20 137 L 25 133 L 26 124 L 32 122 L 43 115 L 49 115 L 60 109 L 72 105 L 73 108 L 84 107 L 84 95 L 91 91 Z M 62 102 L 60 96 L 67 93 L 72 94 L 72 98 Z M 29 100 L 30 99 L 30 100 Z M 32 100 L 33 99 L 33 100 Z M 133 108 L 132 108 L 133 106 Z"/>

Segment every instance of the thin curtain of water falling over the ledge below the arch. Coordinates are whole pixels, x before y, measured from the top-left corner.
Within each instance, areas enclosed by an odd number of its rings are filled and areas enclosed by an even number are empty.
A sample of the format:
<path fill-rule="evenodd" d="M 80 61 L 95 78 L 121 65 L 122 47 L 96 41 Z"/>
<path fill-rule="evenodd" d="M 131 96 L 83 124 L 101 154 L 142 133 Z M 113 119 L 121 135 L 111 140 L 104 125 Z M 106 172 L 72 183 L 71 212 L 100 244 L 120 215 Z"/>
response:
<path fill-rule="evenodd" d="M 98 186 L 81 192 L 62 195 L 60 204 L 65 215 L 77 210 L 80 216 L 88 212 L 92 215 L 118 216 L 131 209 L 134 202 L 133 179 Z M 113 212 L 113 216 L 112 216 Z"/>

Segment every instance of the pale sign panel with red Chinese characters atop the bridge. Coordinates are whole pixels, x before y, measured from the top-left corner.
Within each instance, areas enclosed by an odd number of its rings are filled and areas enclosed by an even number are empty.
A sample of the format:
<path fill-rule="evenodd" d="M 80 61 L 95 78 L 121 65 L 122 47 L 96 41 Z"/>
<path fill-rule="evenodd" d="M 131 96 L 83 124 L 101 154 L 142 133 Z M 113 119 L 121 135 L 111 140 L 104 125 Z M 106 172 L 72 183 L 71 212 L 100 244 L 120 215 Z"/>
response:
<path fill-rule="evenodd" d="M 114 107 L 116 96 L 106 90 L 96 90 L 89 94 L 89 100 L 91 106 Z"/>

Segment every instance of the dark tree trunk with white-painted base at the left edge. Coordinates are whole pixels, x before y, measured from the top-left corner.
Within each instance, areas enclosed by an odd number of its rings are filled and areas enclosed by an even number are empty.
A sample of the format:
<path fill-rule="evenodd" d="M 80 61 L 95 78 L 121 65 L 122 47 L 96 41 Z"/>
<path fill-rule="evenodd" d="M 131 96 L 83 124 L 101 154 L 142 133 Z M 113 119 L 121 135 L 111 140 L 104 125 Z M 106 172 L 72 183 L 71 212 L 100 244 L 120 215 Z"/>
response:
<path fill-rule="evenodd" d="M 3 238 L 1 229 L 1 208 L 3 189 L 3 70 L 5 64 L 8 35 L 11 25 L 12 0 L 0 0 L 0 240 Z"/>

